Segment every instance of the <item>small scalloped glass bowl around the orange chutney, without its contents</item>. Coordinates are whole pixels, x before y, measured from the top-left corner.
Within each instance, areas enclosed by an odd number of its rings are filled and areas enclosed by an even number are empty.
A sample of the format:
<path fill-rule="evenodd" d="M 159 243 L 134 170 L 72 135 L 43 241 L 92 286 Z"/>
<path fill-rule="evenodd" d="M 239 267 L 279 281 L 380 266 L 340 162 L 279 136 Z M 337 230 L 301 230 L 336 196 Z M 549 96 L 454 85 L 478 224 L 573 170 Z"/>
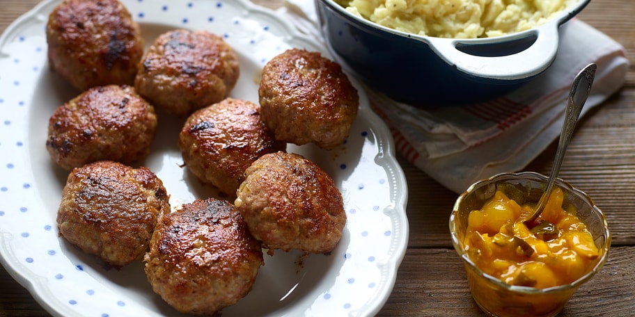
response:
<path fill-rule="evenodd" d="M 611 245 L 611 235 L 604 213 L 593 200 L 566 181 L 558 179 L 556 186 L 565 192 L 563 206 L 570 204 L 577 209 L 577 216 L 585 222 L 599 250 L 599 257 L 590 263 L 586 274 L 570 284 L 549 288 L 513 286 L 505 284 L 483 272 L 465 251 L 464 236 L 470 211 L 481 209 L 496 192 L 498 184 L 522 185 L 531 192 L 530 200 L 538 201 L 547 183 L 547 177 L 535 172 L 502 173 L 478 181 L 460 195 L 450 216 L 450 234 L 456 252 L 463 259 L 470 292 L 476 304 L 491 316 L 556 316 L 565 307 L 577 288 L 595 275 L 606 262 Z"/>

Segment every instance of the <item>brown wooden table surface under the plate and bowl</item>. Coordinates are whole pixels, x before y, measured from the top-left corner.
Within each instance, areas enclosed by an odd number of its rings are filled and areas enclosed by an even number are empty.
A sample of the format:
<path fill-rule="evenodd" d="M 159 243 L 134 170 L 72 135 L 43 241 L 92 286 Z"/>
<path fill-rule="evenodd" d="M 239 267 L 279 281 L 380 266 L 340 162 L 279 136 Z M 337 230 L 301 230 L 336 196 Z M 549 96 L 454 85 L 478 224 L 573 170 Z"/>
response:
<path fill-rule="evenodd" d="M 1 0 L 0 32 L 36 3 Z M 579 17 L 624 45 L 635 64 L 633 0 L 593 0 Z M 555 152 L 554 143 L 525 170 L 549 174 Z M 461 260 L 450 243 L 448 217 L 457 195 L 399 159 L 409 186 L 410 236 L 393 292 L 378 316 L 485 316 L 471 298 Z M 625 86 L 579 122 L 560 177 L 594 198 L 613 234 L 609 261 L 579 288 L 560 316 L 634 316 L 634 66 Z M 0 316 L 49 316 L 1 266 Z"/>

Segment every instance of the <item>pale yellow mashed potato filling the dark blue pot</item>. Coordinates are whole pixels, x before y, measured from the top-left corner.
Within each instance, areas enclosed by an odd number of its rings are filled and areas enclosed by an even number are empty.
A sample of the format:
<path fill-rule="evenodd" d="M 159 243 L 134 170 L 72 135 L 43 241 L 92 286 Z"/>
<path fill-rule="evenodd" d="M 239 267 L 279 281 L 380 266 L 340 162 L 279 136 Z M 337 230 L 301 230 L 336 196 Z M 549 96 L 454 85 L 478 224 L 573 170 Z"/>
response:
<path fill-rule="evenodd" d="M 531 29 L 579 0 L 336 0 L 377 24 L 437 38 L 491 38 Z"/>

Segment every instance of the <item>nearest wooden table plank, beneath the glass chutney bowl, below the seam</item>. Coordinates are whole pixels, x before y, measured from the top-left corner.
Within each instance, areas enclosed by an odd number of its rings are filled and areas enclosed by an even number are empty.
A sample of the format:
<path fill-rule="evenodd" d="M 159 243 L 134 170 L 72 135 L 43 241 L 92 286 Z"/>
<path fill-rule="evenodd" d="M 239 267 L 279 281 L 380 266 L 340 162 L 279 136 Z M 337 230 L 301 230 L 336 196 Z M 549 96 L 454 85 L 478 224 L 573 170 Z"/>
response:
<path fill-rule="evenodd" d="M 632 316 L 635 247 L 614 247 L 600 272 L 574 294 L 560 317 Z M 377 316 L 487 316 L 472 300 L 454 250 L 409 249 L 390 298 Z"/>

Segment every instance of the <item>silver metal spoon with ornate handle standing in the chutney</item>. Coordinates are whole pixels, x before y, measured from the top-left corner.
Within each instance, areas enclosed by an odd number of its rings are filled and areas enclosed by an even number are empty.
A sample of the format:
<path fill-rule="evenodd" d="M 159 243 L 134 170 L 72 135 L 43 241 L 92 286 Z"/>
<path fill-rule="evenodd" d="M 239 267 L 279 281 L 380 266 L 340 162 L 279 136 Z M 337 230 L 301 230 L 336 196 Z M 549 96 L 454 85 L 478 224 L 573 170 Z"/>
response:
<path fill-rule="evenodd" d="M 551 175 L 549 176 L 549 181 L 547 181 L 547 188 L 544 189 L 544 193 L 542 193 L 533 214 L 523 220 L 527 227 L 532 227 L 533 222 L 540 216 L 544 205 L 547 204 L 547 198 L 549 198 L 551 190 L 554 188 L 554 184 L 556 184 L 556 178 L 558 178 L 558 172 L 560 172 L 560 165 L 562 165 L 563 158 L 565 158 L 565 152 L 567 151 L 567 146 L 569 146 L 573 130 L 578 122 L 578 117 L 580 117 L 580 112 L 589 95 L 591 86 L 593 86 L 596 69 L 597 65 L 593 63 L 589 64 L 584 67 L 573 80 L 571 90 L 569 91 L 567 107 L 565 108 L 565 117 L 563 118 L 563 127 L 560 131 L 556 158 L 554 165 L 551 167 Z"/>

